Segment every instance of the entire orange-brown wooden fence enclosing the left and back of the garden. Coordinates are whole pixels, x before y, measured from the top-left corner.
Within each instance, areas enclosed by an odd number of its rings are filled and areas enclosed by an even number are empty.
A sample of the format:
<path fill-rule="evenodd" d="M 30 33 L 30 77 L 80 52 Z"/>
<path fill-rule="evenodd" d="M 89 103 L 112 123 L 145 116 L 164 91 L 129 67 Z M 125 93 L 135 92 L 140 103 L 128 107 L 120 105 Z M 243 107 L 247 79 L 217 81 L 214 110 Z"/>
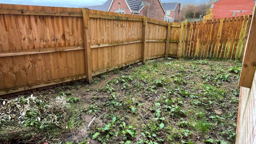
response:
<path fill-rule="evenodd" d="M 212 47 L 221 49 L 213 50 L 219 58 L 231 58 L 226 51 L 235 45 L 238 59 L 251 17 L 242 18 L 166 23 L 81 8 L 0 4 L 0 95 L 90 83 L 94 75 L 146 59 L 211 56 Z"/>

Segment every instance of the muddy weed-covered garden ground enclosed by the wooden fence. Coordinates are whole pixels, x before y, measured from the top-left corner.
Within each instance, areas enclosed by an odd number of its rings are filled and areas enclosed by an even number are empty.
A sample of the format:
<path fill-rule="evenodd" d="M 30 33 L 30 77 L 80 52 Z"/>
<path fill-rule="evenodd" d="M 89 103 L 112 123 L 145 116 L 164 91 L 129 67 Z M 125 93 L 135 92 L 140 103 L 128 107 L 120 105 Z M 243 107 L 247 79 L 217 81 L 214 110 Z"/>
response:
<path fill-rule="evenodd" d="M 0 143 L 231 144 L 241 65 L 157 59 L 1 99 Z"/>

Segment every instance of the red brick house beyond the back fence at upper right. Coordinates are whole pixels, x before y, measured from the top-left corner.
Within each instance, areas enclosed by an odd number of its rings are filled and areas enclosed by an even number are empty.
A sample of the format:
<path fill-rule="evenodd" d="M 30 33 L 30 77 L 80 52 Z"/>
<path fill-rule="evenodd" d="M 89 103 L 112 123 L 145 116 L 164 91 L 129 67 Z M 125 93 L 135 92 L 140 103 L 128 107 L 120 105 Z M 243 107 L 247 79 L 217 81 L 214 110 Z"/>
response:
<path fill-rule="evenodd" d="M 255 0 L 210 0 L 207 16 L 204 19 L 218 19 L 251 15 Z"/>

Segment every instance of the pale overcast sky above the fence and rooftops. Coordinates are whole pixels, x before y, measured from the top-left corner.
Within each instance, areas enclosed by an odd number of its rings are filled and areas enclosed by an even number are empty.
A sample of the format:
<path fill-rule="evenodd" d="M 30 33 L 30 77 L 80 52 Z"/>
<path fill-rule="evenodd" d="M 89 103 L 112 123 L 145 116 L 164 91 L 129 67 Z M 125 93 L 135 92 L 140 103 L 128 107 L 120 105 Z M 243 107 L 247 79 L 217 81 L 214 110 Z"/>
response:
<path fill-rule="evenodd" d="M 102 5 L 106 0 L 0 0 L 0 3 L 55 6 L 55 7 L 80 7 Z M 161 0 L 162 2 L 199 3 L 202 0 Z"/>

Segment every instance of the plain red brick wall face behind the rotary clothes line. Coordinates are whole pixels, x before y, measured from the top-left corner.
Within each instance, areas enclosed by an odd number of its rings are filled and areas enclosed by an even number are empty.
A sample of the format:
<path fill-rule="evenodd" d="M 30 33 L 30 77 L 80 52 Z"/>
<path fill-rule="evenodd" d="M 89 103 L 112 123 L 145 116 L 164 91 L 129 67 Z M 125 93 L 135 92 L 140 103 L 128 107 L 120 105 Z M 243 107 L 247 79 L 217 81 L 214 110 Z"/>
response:
<path fill-rule="evenodd" d="M 249 10 L 239 13 L 239 16 L 251 15 L 255 2 L 253 0 L 220 0 L 214 3 L 213 18 L 226 18 L 233 17 L 234 11 L 230 10 Z M 238 13 L 235 13 L 238 16 Z"/>

